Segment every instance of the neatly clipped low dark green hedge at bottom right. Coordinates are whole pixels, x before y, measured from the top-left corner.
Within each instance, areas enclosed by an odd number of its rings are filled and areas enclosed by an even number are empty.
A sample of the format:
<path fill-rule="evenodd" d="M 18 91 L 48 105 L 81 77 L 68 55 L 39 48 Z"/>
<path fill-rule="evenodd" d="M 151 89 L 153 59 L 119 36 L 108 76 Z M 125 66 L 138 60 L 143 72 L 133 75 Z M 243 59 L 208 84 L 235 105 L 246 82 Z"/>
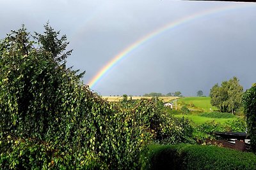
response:
<path fill-rule="evenodd" d="M 207 145 L 150 145 L 144 169 L 256 169 L 253 153 Z"/>

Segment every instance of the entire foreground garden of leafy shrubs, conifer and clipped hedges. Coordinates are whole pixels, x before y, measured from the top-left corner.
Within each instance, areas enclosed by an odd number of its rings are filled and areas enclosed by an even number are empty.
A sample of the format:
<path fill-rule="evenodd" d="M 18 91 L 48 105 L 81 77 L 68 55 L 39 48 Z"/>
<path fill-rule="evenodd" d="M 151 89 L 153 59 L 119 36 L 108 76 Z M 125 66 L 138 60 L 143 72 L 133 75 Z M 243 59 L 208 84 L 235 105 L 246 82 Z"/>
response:
<path fill-rule="evenodd" d="M 256 169 L 254 153 L 205 145 L 212 132 L 245 131 L 247 122 L 255 152 L 255 86 L 243 97 L 247 120 L 125 95 L 109 103 L 66 66 L 67 46 L 49 24 L 33 35 L 23 25 L 0 41 L 1 169 Z"/>

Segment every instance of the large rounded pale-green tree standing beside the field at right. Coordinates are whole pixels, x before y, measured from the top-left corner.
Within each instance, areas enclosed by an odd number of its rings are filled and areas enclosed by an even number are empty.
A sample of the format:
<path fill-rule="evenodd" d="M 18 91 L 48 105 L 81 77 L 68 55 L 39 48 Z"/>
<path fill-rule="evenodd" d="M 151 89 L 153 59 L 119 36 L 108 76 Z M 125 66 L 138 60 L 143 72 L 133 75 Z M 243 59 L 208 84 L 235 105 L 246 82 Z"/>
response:
<path fill-rule="evenodd" d="M 220 109 L 221 112 L 232 112 L 241 107 L 241 97 L 243 87 L 239 84 L 239 80 L 234 77 L 228 81 L 223 81 L 221 86 L 216 83 L 211 91 L 211 104 Z"/>

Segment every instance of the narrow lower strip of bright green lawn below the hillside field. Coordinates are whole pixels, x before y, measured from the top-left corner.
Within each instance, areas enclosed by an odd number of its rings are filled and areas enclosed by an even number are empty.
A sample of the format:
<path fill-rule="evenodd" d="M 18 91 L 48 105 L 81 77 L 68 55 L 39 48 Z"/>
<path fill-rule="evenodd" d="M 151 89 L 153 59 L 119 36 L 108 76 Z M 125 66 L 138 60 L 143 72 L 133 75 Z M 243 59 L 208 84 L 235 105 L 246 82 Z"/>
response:
<path fill-rule="evenodd" d="M 200 117 L 198 115 L 173 115 L 174 117 L 185 117 L 188 118 L 189 120 L 192 120 L 195 122 L 195 124 L 204 124 L 205 122 L 211 122 L 214 120 L 215 122 L 220 122 L 221 124 L 225 124 L 228 120 L 236 120 L 237 117 L 234 118 L 209 118 L 209 117 Z"/>

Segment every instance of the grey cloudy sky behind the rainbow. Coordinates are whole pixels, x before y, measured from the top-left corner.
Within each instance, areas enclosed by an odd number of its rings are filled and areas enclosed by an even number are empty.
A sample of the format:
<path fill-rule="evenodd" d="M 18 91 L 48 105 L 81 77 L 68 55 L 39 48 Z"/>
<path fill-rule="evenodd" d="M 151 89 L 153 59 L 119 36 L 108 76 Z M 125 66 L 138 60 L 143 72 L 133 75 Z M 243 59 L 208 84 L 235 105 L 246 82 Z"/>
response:
<path fill-rule="evenodd" d="M 0 0 L 0 39 L 22 24 L 42 33 L 47 21 L 70 41 L 67 65 L 101 96 L 208 96 L 234 76 L 244 90 L 256 82 L 256 3 Z"/>

